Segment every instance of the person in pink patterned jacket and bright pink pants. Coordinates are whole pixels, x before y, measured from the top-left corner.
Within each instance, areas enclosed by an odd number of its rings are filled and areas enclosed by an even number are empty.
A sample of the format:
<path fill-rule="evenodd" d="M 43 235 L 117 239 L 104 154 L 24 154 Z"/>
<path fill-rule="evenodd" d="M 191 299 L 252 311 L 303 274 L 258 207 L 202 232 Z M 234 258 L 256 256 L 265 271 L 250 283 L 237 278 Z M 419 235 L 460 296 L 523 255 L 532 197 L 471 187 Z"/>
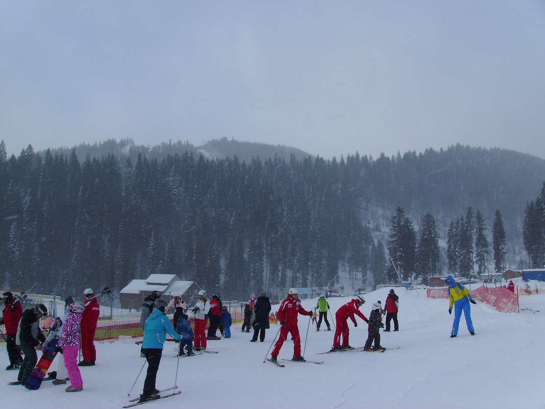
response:
<path fill-rule="evenodd" d="M 67 300 L 69 301 L 68 298 Z M 85 309 L 86 307 L 82 303 L 73 301 L 71 304 L 66 305 L 66 320 L 63 323 L 62 333 L 55 348 L 57 352 L 63 354 L 64 366 L 70 378 L 70 385 L 66 387 L 66 392 L 80 392 L 83 390 L 83 380 L 77 364 L 77 353 L 80 350 L 80 329 Z M 56 384 L 61 383 L 64 382 L 56 382 Z"/>

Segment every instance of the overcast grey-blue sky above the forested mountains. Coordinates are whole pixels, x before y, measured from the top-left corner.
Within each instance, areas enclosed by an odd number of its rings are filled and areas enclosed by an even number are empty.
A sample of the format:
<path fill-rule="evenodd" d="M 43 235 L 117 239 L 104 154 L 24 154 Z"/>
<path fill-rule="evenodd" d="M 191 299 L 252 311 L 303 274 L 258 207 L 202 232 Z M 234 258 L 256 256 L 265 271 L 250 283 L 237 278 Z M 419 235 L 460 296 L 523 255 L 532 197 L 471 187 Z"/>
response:
<path fill-rule="evenodd" d="M 542 0 L 0 2 L 9 153 L 227 136 L 545 158 Z"/>

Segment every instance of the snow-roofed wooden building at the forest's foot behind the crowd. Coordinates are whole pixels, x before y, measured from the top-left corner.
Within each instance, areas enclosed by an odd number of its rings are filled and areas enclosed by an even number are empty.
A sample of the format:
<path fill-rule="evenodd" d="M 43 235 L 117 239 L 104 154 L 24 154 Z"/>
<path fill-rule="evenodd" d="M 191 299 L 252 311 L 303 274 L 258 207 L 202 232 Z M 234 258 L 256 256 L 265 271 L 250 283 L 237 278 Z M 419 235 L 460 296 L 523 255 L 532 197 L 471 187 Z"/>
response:
<path fill-rule="evenodd" d="M 187 304 L 190 300 L 197 298 L 201 290 L 195 281 L 182 281 L 175 274 L 152 274 L 145 280 L 132 280 L 119 292 L 121 308 L 140 308 L 144 298 L 152 291 L 159 291 L 161 298 L 167 301 L 172 297 L 180 295 Z"/>

